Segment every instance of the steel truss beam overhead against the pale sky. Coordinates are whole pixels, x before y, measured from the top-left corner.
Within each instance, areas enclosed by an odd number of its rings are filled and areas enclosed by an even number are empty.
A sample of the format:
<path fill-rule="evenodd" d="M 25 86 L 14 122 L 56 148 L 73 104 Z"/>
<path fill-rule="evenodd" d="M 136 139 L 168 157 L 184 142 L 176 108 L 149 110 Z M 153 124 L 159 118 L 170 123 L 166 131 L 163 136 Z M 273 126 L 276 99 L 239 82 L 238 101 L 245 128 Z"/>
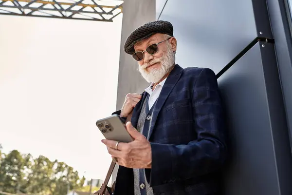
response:
<path fill-rule="evenodd" d="M 0 0 L 0 15 L 110 21 L 123 0 Z"/>

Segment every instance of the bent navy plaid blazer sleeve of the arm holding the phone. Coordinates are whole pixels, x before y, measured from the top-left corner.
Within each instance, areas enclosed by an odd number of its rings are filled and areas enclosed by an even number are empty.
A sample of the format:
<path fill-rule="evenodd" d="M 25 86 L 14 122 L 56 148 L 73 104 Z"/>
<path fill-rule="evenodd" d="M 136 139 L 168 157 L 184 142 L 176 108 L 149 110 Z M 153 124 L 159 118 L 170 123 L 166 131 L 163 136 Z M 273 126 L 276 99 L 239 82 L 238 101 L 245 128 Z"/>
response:
<path fill-rule="evenodd" d="M 194 83 L 192 108 L 196 140 L 187 145 L 150 143 L 152 165 L 146 169 L 150 186 L 208 174 L 225 160 L 224 117 L 217 78 L 211 69 L 203 68 Z"/>

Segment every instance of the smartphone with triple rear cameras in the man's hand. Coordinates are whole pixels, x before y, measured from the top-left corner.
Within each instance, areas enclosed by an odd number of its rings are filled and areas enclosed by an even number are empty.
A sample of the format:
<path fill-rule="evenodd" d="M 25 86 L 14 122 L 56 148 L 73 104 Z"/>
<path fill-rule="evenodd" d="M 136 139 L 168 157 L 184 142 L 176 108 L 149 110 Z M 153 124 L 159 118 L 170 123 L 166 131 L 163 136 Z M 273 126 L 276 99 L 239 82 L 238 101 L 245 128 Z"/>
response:
<path fill-rule="evenodd" d="M 96 126 L 106 139 L 131 142 L 134 139 L 129 135 L 124 123 L 118 115 L 112 115 L 96 121 Z"/>

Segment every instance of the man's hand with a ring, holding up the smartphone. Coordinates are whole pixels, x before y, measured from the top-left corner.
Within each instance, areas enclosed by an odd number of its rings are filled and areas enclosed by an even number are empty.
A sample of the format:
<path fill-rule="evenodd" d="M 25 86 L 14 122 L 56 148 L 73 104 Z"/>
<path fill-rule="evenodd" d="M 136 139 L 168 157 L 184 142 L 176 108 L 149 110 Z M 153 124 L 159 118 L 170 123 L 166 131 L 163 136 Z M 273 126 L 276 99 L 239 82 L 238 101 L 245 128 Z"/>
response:
<path fill-rule="evenodd" d="M 129 143 L 119 142 L 117 150 L 115 145 L 117 141 L 103 139 L 102 142 L 107 146 L 112 157 L 117 158 L 117 164 L 128 168 L 151 168 L 152 156 L 150 142 L 139 133 L 131 124 L 127 122 L 126 128 L 134 141 Z"/>

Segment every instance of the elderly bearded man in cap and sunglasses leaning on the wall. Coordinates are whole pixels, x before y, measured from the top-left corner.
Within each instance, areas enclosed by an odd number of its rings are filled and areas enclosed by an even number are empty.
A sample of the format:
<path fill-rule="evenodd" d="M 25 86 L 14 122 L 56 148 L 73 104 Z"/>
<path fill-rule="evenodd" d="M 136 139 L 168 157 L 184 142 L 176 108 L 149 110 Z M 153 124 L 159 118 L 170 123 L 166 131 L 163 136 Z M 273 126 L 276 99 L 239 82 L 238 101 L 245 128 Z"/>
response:
<path fill-rule="evenodd" d="M 177 40 L 167 21 L 142 25 L 124 49 L 150 86 L 128 94 L 115 112 L 132 114 L 126 128 L 134 141 L 102 140 L 120 165 L 114 195 L 217 195 L 226 146 L 214 72 L 175 63 Z"/>

